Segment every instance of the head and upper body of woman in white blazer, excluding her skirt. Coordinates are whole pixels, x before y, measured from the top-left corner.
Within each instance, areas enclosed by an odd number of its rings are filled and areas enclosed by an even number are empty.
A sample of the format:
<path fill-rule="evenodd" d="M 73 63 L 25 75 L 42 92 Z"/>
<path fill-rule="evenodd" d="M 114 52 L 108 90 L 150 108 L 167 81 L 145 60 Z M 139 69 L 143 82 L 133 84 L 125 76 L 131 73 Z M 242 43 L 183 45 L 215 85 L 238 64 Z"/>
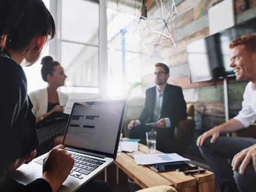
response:
<path fill-rule="evenodd" d="M 47 87 L 29 93 L 29 98 L 33 103 L 32 109 L 36 116 L 36 123 L 41 122 L 55 111 L 63 112 L 68 102 L 68 95 L 57 91 L 58 87 L 65 84 L 67 76 L 58 61 L 54 61 L 51 56 L 46 56 L 41 61 L 41 75 Z"/>

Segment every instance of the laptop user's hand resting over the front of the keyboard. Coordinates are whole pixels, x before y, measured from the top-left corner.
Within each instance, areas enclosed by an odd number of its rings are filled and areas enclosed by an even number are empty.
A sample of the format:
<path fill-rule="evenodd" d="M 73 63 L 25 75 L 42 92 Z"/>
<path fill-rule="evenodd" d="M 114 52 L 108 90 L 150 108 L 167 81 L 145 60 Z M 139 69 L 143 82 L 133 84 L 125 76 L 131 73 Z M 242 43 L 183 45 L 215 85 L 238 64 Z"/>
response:
<path fill-rule="evenodd" d="M 46 180 L 51 185 L 52 191 L 55 192 L 67 179 L 73 165 L 74 159 L 67 153 L 63 145 L 58 145 L 44 159 L 42 179 Z"/>

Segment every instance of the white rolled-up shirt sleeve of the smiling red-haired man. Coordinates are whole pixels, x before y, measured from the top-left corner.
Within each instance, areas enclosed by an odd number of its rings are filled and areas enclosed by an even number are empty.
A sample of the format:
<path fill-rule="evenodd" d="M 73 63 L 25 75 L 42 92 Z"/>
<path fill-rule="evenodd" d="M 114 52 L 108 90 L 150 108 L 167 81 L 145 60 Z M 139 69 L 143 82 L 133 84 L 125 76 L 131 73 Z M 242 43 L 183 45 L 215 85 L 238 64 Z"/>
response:
<path fill-rule="evenodd" d="M 234 117 L 237 121 L 241 122 L 244 128 L 249 127 L 250 124 L 254 123 L 256 120 L 256 114 L 252 110 L 252 106 L 250 105 L 250 97 L 249 97 L 249 90 L 246 87 L 244 95 L 243 95 L 243 102 L 242 102 L 242 110 L 239 111 L 238 115 Z"/>

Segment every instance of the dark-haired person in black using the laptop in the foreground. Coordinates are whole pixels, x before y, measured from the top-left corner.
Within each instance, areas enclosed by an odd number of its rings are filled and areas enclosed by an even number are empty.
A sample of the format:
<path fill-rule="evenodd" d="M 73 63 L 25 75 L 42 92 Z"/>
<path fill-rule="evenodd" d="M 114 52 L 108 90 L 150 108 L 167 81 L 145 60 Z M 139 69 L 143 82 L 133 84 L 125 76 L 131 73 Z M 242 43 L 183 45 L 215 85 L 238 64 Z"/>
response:
<path fill-rule="evenodd" d="M 3 83 L 0 112 L 1 182 L 5 172 L 29 163 L 36 155 L 38 138 L 35 116 L 27 95 L 27 79 L 20 65 L 33 65 L 38 60 L 48 39 L 55 36 L 55 24 L 42 0 L 1 1 L 0 18 L 0 81 Z M 73 165 L 74 159 L 64 146 L 59 145 L 45 158 L 42 177 L 24 186 L 21 191 L 57 191 Z M 87 189 L 94 189 L 92 184 L 86 186 Z M 1 191 L 10 191 L 12 186 L 8 185 L 6 189 L 0 187 Z M 102 189 L 107 190 L 111 189 Z"/>

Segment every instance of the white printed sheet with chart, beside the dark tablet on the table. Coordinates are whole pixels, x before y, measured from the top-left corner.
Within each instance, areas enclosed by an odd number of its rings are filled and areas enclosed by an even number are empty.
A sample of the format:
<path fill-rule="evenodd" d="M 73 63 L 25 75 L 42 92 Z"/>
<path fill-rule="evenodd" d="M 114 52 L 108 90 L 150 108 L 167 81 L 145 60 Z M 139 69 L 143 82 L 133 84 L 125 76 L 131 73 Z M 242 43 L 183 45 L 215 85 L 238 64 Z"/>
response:
<path fill-rule="evenodd" d="M 178 154 L 141 154 L 133 155 L 137 165 L 148 165 L 155 163 L 167 163 L 167 162 L 178 162 L 178 161 L 190 161 L 188 158 L 184 158 Z"/>

